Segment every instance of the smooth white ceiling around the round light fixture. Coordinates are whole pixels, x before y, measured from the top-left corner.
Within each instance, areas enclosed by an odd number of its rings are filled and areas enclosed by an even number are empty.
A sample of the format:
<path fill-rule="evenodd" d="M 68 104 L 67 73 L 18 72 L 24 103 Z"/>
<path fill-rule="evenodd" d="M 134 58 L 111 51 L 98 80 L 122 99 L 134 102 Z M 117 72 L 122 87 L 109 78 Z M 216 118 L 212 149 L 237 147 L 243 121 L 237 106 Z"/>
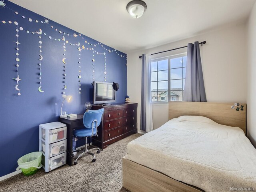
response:
<path fill-rule="evenodd" d="M 145 0 L 146 12 L 135 19 L 126 11 L 129 0 L 11 1 L 122 52 L 241 24 L 255 3 L 255 0 Z"/>

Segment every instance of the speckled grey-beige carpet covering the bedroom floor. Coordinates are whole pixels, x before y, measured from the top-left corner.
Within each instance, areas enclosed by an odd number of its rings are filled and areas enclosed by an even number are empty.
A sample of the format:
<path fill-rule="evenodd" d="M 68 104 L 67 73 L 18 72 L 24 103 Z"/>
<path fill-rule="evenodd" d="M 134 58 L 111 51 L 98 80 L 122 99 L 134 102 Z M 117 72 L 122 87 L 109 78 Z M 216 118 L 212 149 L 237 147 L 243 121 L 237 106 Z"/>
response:
<path fill-rule="evenodd" d="M 1 192 L 128 192 L 122 188 L 122 157 L 127 144 L 141 136 L 133 134 L 97 154 L 84 155 L 75 166 L 64 165 L 48 173 L 41 168 L 32 176 L 22 173 L 0 182 Z"/>

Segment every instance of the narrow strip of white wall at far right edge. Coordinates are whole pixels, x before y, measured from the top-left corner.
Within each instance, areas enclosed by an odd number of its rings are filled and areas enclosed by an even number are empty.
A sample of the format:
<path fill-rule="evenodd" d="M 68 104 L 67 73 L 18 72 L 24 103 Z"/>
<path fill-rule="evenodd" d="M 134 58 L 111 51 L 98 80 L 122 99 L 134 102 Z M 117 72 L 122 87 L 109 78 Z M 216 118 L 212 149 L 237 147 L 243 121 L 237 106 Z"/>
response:
<path fill-rule="evenodd" d="M 247 136 L 256 147 L 256 3 L 246 27 L 248 38 Z"/>

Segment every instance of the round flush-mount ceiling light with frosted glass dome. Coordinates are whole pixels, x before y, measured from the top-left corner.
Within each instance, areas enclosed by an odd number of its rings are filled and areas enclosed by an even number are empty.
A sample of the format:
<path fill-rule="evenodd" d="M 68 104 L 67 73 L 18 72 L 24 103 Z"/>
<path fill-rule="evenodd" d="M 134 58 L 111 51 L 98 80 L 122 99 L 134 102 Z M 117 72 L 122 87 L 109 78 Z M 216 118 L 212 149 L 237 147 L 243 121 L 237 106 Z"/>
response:
<path fill-rule="evenodd" d="M 126 10 L 133 18 L 139 18 L 146 11 L 147 5 L 142 0 L 133 0 L 126 6 Z"/>

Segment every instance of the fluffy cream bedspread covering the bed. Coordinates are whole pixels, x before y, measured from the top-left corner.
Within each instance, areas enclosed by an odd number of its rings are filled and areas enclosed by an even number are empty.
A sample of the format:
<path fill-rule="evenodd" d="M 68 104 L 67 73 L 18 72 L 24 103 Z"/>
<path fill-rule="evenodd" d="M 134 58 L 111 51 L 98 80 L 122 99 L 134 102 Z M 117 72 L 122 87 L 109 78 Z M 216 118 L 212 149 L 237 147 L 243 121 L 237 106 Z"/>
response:
<path fill-rule="evenodd" d="M 244 132 L 202 116 L 168 121 L 130 142 L 125 157 L 206 192 L 256 191 L 256 149 Z"/>

